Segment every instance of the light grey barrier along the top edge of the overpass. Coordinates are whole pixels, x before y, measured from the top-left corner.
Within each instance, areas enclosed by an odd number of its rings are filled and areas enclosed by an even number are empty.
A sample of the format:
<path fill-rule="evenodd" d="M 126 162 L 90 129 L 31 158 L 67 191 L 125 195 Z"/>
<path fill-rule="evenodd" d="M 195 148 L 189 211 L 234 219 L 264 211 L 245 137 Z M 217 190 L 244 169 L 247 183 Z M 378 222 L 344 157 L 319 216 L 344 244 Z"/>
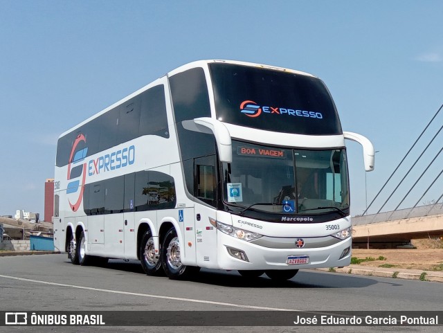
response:
<path fill-rule="evenodd" d="M 432 204 L 427 206 L 419 206 L 415 208 L 406 208 L 400 210 L 393 210 L 390 212 L 356 216 L 352 217 L 352 225 L 358 226 L 360 224 L 370 224 L 377 222 L 389 222 L 397 219 L 409 219 L 411 217 L 424 217 L 432 215 L 443 214 L 443 203 Z"/>

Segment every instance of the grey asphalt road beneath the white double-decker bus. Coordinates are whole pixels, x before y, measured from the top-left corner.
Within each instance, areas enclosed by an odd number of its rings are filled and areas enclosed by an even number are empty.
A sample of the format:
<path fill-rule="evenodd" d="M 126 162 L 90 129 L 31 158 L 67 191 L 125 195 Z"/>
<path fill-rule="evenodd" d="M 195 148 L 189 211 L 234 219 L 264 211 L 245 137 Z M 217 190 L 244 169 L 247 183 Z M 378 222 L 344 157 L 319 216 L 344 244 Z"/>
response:
<path fill-rule="evenodd" d="M 0 258 L 0 311 L 443 310 L 442 284 L 300 271 L 275 284 L 235 271 L 188 281 L 145 276 L 139 262 L 80 267 L 66 254 Z M 440 327 L 0 327 L 0 332 L 441 332 Z"/>

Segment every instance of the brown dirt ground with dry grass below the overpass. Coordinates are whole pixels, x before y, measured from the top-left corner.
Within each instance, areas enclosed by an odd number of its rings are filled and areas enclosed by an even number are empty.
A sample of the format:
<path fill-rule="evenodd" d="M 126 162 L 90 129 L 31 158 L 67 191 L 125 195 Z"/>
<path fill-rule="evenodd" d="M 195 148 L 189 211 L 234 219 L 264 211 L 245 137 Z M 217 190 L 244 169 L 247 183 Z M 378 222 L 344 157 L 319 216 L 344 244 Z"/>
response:
<path fill-rule="evenodd" d="M 412 243 L 417 249 L 352 249 L 352 257 L 376 259 L 361 262 L 361 266 L 443 271 L 441 240 L 413 240 Z M 383 257 L 382 260 L 379 260 L 380 256 Z"/>

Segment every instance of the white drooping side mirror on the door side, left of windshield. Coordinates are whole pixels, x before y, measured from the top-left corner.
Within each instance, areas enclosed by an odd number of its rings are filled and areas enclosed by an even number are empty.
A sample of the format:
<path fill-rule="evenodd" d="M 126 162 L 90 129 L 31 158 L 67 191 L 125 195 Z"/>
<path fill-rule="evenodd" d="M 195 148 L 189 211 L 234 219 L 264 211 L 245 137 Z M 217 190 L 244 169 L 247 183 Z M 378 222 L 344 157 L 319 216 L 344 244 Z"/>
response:
<path fill-rule="evenodd" d="M 221 121 L 208 117 L 195 118 L 194 120 L 184 120 L 183 128 L 190 131 L 213 134 L 217 142 L 219 159 L 221 162 L 232 163 L 233 150 L 230 134 L 226 126 Z"/>

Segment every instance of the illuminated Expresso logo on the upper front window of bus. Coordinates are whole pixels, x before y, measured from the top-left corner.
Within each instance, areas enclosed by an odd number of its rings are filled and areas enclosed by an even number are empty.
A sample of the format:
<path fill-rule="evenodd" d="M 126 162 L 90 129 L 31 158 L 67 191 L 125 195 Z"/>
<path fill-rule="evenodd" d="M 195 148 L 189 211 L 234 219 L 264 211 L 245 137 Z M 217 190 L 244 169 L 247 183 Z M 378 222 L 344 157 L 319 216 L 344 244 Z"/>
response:
<path fill-rule="evenodd" d="M 240 112 L 248 117 L 256 118 L 261 114 L 273 114 L 275 116 L 296 116 L 305 118 L 323 119 L 323 114 L 316 111 L 288 109 L 284 107 L 269 107 L 257 105 L 253 100 L 244 100 L 240 104 Z"/>

